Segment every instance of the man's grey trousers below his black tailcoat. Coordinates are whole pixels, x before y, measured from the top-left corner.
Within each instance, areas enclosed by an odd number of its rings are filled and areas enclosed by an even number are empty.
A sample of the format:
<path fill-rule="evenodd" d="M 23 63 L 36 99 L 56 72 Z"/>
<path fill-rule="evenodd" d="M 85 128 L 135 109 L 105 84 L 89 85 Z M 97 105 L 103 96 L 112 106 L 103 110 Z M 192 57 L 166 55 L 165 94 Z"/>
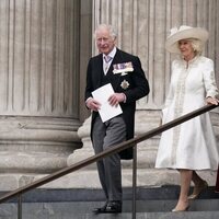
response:
<path fill-rule="evenodd" d="M 97 116 L 93 126 L 93 148 L 95 153 L 126 140 L 126 125 L 122 116 L 102 123 Z M 107 200 L 122 200 L 122 168 L 118 153 L 96 162 L 99 177 Z"/>

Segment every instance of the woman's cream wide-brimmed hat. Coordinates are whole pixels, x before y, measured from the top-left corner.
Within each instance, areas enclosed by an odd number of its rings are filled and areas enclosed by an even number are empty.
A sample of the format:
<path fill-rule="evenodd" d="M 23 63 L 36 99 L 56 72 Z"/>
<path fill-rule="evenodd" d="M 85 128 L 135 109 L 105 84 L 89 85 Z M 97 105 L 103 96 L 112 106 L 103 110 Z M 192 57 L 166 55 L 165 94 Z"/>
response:
<path fill-rule="evenodd" d="M 178 28 L 171 28 L 171 34 L 166 38 L 165 48 L 170 53 L 181 54 L 178 49 L 178 41 L 186 38 L 197 38 L 204 45 L 208 39 L 208 32 L 201 27 L 192 27 L 182 25 Z"/>

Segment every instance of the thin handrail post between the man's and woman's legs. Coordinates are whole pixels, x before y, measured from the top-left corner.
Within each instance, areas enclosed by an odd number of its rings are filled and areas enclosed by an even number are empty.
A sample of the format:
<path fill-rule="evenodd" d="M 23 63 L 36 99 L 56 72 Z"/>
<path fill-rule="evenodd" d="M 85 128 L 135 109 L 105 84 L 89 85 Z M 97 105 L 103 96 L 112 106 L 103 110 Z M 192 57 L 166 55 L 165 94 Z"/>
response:
<path fill-rule="evenodd" d="M 132 219 L 136 219 L 137 146 L 135 146 L 132 150 Z"/>

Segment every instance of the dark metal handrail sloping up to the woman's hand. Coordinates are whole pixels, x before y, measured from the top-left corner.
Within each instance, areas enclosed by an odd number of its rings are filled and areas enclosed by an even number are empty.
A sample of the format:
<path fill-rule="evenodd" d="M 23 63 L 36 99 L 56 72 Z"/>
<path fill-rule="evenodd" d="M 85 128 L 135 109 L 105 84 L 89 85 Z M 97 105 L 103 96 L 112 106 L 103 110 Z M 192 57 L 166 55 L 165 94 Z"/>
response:
<path fill-rule="evenodd" d="M 8 200 L 10 198 L 13 198 L 13 197 L 16 197 L 16 196 L 21 196 L 22 194 L 24 194 L 24 193 L 26 193 L 26 192 L 28 192 L 31 189 L 34 189 L 34 188 L 36 188 L 38 186 L 42 186 L 42 185 L 47 184 L 47 183 L 49 183 L 49 182 L 51 182 L 54 180 L 57 180 L 57 178 L 59 178 L 59 177 L 61 177 L 64 175 L 72 173 L 72 172 L 74 172 L 74 171 L 77 171 L 79 169 L 82 169 L 82 168 L 84 168 L 84 166 L 87 166 L 87 165 L 89 165 L 91 163 L 94 163 L 94 162 L 96 162 L 96 161 L 99 161 L 99 160 L 101 160 L 101 159 L 103 159 L 103 158 L 105 158 L 107 155 L 111 155 L 113 153 L 119 152 L 119 151 L 125 150 L 127 148 L 131 148 L 131 147 L 136 146 L 137 143 L 139 143 L 139 142 L 141 142 L 143 140 L 147 140 L 147 139 L 149 139 L 149 138 L 151 138 L 153 136 L 157 136 L 157 135 L 161 134 L 162 131 L 165 131 L 165 130 L 168 130 L 168 129 L 170 129 L 170 128 L 172 128 L 174 126 L 177 126 L 177 125 L 180 125 L 180 124 L 182 124 L 182 123 L 184 123 L 184 122 L 186 122 L 188 119 L 192 119 L 192 118 L 194 118 L 194 117 L 196 117 L 196 116 L 198 116 L 200 114 L 204 114 L 204 113 L 206 113 L 208 111 L 211 111 L 211 110 L 214 110 L 216 107 L 218 107 L 218 105 L 206 105 L 206 106 L 203 106 L 201 108 L 198 108 L 198 110 L 193 111 L 193 112 L 191 112 L 191 113 L 188 113 L 186 115 L 183 115 L 183 116 L 181 116 L 181 117 L 178 117 L 178 118 L 176 118 L 176 119 L 174 119 L 174 120 L 172 120 L 170 123 L 166 123 L 166 124 L 164 124 L 162 126 L 159 126 L 158 128 L 154 128 L 154 129 L 152 129 L 152 130 L 150 130 L 150 131 L 148 131 L 146 134 L 139 135 L 139 136 L 137 136 L 137 137 L 135 137 L 132 139 L 129 139 L 127 141 L 125 141 L 125 142 L 118 143 L 115 147 L 112 147 L 112 148 L 110 148 L 110 149 L 107 149 L 107 150 L 105 150 L 103 152 L 100 152 L 100 153 L 97 153 L 95 155 L 92 155 L 92 157 L 90 157 L 90 158 L 88 158 L 88 159 L 85 159 L 83 161 L 77 162 L 77 163 L 74 163 L 74 164 L 72 164 L 70 166 L 67 166 L 67 168 L 61 169 L 61 170 L 59 170 L 59 171 L 57 171 L 55 173 L 51 173 L 51 174 L 49 174 L 49 175 L 47 175 L 45 177 L 42 177 L 42 178 L 39 178 L 37 181 L 34 181 L 31 184 L 22 186 L 22 187 L 15 189 L 15 191 L 9 192 L 9 193 L 4 194 L 2 197 L 0 197 L 0 203 L 3 203 L 5 200 Z"/>

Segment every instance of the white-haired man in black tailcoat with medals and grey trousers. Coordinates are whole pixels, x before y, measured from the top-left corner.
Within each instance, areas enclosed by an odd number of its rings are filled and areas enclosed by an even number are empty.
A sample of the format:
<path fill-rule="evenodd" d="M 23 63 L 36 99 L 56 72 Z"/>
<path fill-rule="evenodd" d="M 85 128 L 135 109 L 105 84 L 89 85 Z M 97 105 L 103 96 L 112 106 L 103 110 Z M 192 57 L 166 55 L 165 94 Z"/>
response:
<path fill-rule="evenodd" d="M 91 139 L 95 153 L 134 137 L 136 101 L 149 93 L 149 84 L 138 57 L 116 47 L 116 34 L 111 25 L 101 24 L 95 31 L 100 54 L 90 59 L 87 71 L 85 104 L 92 111 Z M 103 123 L 99 110 L 101 104 L 92 92 L 107 83 L 114 89 L 108 103 L 120 105 L 123 114 Z M 131 159 L 132 149 L 97 161 L 101 185 L 106 203 L 95 208 L 95 214 L 122 212 L 120 159 Z"/>

